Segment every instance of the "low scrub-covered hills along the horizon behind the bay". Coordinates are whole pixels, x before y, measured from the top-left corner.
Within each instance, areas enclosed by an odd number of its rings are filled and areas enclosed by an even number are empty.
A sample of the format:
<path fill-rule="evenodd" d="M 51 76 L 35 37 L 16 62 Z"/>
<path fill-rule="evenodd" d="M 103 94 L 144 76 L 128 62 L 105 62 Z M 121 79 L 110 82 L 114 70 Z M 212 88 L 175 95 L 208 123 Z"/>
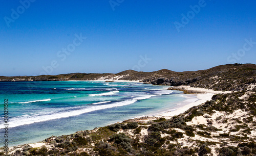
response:
<path fill-rule="evenodd" d="M 162 69 L 153 72 L 125 70 L 116 74 L 69 73 L 39 76 L 0 76 L 0 81 L 139 80 L 153 85 L 190 85 L 191 87 L 221 91 L 239 91 L 252 87 L 256 83 L 255 77 L 255 64 L 226 64 L 206 70 L 184 72 Z"/>

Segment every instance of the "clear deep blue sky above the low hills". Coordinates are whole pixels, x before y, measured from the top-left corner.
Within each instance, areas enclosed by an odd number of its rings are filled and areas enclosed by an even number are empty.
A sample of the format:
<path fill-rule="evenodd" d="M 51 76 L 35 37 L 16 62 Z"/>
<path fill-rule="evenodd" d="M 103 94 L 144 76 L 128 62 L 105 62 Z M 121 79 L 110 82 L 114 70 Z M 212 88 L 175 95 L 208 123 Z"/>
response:
<path fill-rule="evenodd" d="M 30 1 L 1 1 L 0 75 L 256 64 L 252 0 Z"/>

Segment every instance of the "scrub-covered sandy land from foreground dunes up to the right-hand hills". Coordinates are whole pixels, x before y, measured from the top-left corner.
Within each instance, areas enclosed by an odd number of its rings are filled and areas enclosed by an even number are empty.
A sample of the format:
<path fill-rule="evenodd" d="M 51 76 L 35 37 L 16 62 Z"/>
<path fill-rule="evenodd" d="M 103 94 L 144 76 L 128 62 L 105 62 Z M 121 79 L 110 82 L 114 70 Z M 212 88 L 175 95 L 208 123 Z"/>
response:
<path fill-rule="evenodd" d="M 166 69 L 142 72 L 145 83 L 173 86 L 189 84 L 193 87 L 233 92 L 216 94 L 211 100 L 170 119 L 154 118 L 148 121 L 143 117 L 91 131 L 52 136 L 42 142 L 45 146 L 17 146 L 13 147 L 12 154 L 256 155 L 255 66 L 229 64 L 182 74 Z M 135 80 L 136 76 L 136 79 L 140 77 L 132 70 L 116 75 L 127 73 L 131 77 L 124 76 L 123 79 Z M 86 73 L 72 73 L 72 76 L 74 79 L 79 76 L 83 76 L 83 79 L 87 79 L 87 76 L 96 77 Z"/>

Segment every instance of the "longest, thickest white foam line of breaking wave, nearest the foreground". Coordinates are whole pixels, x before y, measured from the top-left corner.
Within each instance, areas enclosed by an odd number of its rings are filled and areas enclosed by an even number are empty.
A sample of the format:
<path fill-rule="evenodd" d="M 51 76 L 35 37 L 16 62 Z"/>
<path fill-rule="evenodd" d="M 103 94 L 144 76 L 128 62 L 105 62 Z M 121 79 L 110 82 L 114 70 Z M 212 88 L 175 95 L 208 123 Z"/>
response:
<path fill-rule="evenodd" d="M 38 114 L 33 116 L 20 116 L 20 117 L 14 117 L 12 118 L 12 121 L 9 122 L 9 127 L 16 127 L 20 125 L 25 124 L 31 124 L 35 122 L 42 122 L 42 121 L 48 121 L 48 120 L 54 120 L 59 118 L 66 118 L 71 116 L 77 116 L 83 113 L 88 113 L 92 111 L 102 110 L 102 109 L 108 109 L 113 107 L 121 107 L 125 105 L 131 105 L 132 103 L 136 102 L 137 100 L 124 100 L 124 101 L 118 101 L 115 103 L 112 103 L 110 105 L 99 105 L 99 106 L 90 106 L 90 107 L 84 107 L 79 110 L 73 110 L 73 111 L 66 111 L 66 112 L 60 112 L 60 113 L 54 113 L 54 114 Z"/>

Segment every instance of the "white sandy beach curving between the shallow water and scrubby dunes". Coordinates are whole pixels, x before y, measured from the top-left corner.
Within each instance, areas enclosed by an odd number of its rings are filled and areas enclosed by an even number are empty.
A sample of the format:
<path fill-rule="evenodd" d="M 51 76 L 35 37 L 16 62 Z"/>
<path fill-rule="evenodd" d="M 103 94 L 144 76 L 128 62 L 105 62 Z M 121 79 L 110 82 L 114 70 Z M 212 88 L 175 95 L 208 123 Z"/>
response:
<path fill-rule="evenodd" d="M 101 81 L 101 80 L 97 80 L 97 81 Z M 120 82 L 120 81 L 118 81 L 118 82 Z M 135 81 L 132 81 L 132 82 L 135 82 Z M 172 87 L 168 87 L 169 90 L 171 88 Z M 159 119 L 159 118 L 162 118 L 162 117 L 165 118 L 165 119 L 170 119 L 170 118 L 172 118 L 175 115 L 179 115 L 179 114 L 184 113 L 185 111 L 187 111 L 191 107 L 201 105 L 202 103 L 206 102 L 207 100 L 211 100 L 211 97 L 214 94 L 229 93 L 229 91 L 228 92 L 222 92 L 222 91 L 214 91 L 214 90 L 209 90 L 209 89 L 204 89 L 204 88 L 192 88 L 192 87 L 189 87 L 189 86 L 180 86 L 180 87 L 174 87 L 174 88 L 176 88 L 176 90 L 181 88 L 183 90 L 191 90 L 191 91 L 200 92 L 200 93 L 190 93 L 190 94 L 182 93 L 181 96 L 185 96 L 186 99 L 181 101 L 181 102 L 179 102 L 179 103 L 177 103 L 177 105 L 174 108 L 171 108 L 171 109 L 163 111 L 163 112 L 157 112 L 157 113 L 152 113 L 152 114 L 147 114 L 147 115 L 139 116 L 139 117 L 132 118 L 132 119 L 123 120 L 121 122 L 129 122 L 129 121 L 147 122 L 147 121 Z M 19 147 L 23 147 L 25 145 L 30 145 L 32 147 L 36 147 L 37 148 L 37 147 L 41 147 L 41 146 L 46 145 L 46 143 L 44 143 L 42 141 L 39 141 L 39 142 L 36 142 L 36 143 L 11 146 L 9 148 L 10 148 L 10 150 L 12 150 L 12 149 L 14 149 L 14 147 L 18 147 L 19 148 Z"/>

